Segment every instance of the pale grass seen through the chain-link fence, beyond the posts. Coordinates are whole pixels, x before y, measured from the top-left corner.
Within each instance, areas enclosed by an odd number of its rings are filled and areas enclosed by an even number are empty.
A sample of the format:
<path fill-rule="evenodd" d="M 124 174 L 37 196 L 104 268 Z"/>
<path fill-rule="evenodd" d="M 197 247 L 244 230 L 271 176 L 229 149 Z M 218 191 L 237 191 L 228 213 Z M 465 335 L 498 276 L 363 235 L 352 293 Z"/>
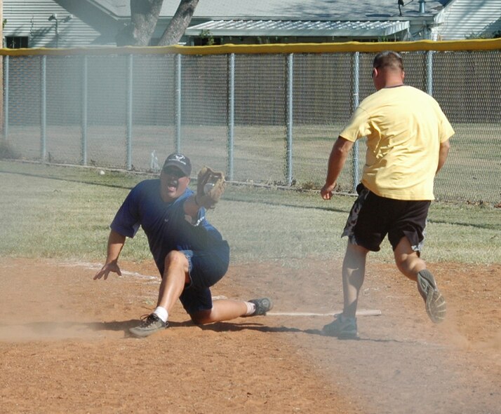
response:
<path fill-rule="evenodd" d="M 293 170 L 296 188 L 319 188 L 325 179 L 327 160 L 335 139 L 344 124 L 300 124 L 293 127 Z M 435 194 L 440 200 L 454 202 L 501 202 L 498 184 L 500 123 L 454 123 L 455 135 L 446 165 L 435 182 Z M 126 141 L 123 127 L 96 125 L 88 142 L 88 163 L 123 168 L 126 165 Z M 9 130 L 8 158 L 39 160 L 38 127 L 12 125 Z M 175 137 L 173 127 L 164 125 L 134 125 L 132 165 L 134 170 L 147 171 L 150 156 L 156 151 L 160 162 L 173 144 L 166 137 Z M 48 158 L 53 163 L 79 164 L 81 142 L 79 125 L 51 125 L 48 134 Z M 257 183 L 285 184 L 287 146 L 285 125 L 235 125 L 233 178 Z M 207 163 L 219 170 L 227 168 L 227 128 L 224 125 L 183 125 L 182 151 L 189 154 L 198 170 Z M 6 145 L 6 144 L 5 144 Z M 173 148 L 172 148 L 173 149 Z M 1 155 L 0 149 L 0 155 Z M 362 140 L 358 152 L 358 171 L 365 161 L 366 144 Z M 340 175 L 342 191 L 350 191 L 354 151 Z"/>

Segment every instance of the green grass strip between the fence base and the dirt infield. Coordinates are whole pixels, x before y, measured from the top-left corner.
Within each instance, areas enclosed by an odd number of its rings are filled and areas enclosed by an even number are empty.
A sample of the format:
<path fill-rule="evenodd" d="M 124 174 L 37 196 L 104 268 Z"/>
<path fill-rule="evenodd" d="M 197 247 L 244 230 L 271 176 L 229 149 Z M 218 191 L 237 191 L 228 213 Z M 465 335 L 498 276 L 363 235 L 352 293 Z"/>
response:
<path fill-rule="evenodd" d="M 0 256 L 103 261 L 109 223 L 129 189 L 148 174 L 0 161 Z M 318 191 L 229 185 L 208 219 L 232 246 L 234 262 L 300 262 L 341 258 L 340 238 L 354 198 L 321 200 Z M 427 261 L 499 263 L 501 209 L 434 202 L 429 213 Z M 122 258 L 150 258 L 138 232 Z M 372 260 L 392 261 L 385 241 Z"/>

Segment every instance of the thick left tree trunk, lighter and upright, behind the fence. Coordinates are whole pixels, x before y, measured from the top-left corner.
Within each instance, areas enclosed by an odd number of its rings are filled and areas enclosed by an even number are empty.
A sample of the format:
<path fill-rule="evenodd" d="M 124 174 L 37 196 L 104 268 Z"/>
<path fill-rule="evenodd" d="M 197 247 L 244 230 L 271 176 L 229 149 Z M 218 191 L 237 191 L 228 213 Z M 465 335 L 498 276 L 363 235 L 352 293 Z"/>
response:
<path fill-rule="evenodd" d="M 131 23 L 116 35 L 117 46 L 148 46 L 163 0 L 131 0 Z"/>

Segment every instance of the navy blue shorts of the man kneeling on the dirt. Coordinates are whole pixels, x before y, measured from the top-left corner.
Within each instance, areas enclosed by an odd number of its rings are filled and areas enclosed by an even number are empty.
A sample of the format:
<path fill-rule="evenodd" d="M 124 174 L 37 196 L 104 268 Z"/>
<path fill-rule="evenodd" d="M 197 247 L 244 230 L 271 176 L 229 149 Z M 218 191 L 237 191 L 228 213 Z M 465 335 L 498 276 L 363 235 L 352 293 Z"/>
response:
<path fill-rule="evenodd" d="M 229 265 L 227 242 L 218 245 L 217 251 L 182 250 L 189 263 L 190 282 L 180 296 L 183 308 L 190 315 L 201 310 L 212 309 L 211 286 L 226 274 Z"/>

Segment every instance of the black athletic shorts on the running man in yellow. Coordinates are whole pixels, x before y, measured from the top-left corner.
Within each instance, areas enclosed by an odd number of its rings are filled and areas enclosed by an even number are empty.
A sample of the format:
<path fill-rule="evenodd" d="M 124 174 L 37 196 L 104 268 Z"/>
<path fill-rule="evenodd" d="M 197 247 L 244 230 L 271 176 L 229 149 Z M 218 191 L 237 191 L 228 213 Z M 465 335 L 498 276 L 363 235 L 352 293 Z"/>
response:
<path fill-rule="evenodd" d="M 396 249 L 402 237 L 407 237 L 414 251 L 421 251 L 425 242 L 425 227 L 429 200 L 393 200 L 380 197 L 359 184 L 359 197 L 349 212 L 343 236 L 352 244 L 370 251 L 380 251 L 382 240 Z"/>

